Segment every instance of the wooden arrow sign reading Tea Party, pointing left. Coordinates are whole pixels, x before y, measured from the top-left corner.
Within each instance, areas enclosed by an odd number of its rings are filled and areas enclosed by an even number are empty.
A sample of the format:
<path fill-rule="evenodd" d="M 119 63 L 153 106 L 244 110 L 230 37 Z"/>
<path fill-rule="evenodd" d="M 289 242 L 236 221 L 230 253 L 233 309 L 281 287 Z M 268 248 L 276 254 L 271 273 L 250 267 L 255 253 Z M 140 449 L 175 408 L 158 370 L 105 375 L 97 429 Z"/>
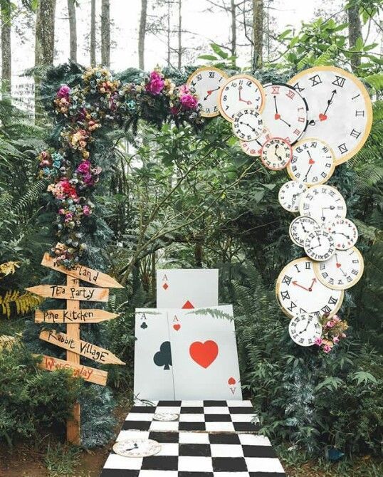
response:
<path fill-rule="evenodd" d="M 68 285 L 37 285 L 26 290 L 44 298 L 59 298 L 61 300 L 107 301 L 107 288 L 88 288 L 86 286 Z"/>

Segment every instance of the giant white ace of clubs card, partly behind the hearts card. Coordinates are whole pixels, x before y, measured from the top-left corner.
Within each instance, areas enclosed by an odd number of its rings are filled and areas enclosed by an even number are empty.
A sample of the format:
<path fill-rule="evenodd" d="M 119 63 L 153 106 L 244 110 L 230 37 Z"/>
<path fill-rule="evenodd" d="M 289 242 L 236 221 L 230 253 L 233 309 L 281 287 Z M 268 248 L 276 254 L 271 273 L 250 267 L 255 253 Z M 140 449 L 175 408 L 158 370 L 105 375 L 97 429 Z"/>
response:
<path fill-rule="evenodd" d="M 137 309 L 135 337 L 135 398 L 174 400 L 167 310 Z"/>

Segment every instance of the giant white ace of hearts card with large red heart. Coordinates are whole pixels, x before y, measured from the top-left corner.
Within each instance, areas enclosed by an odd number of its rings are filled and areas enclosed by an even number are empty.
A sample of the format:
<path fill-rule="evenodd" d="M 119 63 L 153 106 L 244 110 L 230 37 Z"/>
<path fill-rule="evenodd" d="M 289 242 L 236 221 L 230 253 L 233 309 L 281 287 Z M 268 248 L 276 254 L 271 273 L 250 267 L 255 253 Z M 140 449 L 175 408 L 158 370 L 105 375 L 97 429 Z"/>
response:
<path fill-rule="evenodd" d="M 231 305 L 209 307 L 233 318 Z M 242 399 L 234 321 L 169 310 L 175 399 Z"/>

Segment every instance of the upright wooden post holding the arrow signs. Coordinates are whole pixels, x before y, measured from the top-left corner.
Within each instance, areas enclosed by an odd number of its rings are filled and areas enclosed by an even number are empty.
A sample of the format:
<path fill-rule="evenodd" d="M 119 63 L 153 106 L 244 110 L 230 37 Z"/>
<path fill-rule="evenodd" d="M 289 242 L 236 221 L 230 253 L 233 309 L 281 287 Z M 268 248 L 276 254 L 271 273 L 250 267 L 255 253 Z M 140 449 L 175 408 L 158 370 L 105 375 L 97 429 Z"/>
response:
<path fill-rule="evenodd" d="M 79 286 L 80 281 L 78 278 L 71 276 L 66 277 L 66 284 L 68 286 Z M 66 300 L 67 310 L 78 310 L 80 308 L 80 301 L 78 300 Z M 78 323 L 68 323 L 66 325 L 66 334 L 75 340 L 80 339 L 80 325 Z M 80 355 L 72 352 L 66 352 L 66 360 L 73 362 L 76 365 L 80 365 Z M 73 417 L 68 419 L 66 423 L 66 439 L 75 445 L 80 445 L 80 404 L 76 402 L 73 407 Z"/>

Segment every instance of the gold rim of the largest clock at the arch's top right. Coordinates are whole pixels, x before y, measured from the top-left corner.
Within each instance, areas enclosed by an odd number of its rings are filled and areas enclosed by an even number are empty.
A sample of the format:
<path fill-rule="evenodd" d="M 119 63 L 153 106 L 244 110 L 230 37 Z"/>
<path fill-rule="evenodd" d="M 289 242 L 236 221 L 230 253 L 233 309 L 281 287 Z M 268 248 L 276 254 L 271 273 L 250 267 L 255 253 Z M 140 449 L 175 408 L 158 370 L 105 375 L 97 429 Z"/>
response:
<path fill-rule="evenodd" d="M 369 137 L 369 133 L 371 132 L 371 127 L 372 127 L 372 102 L 371 102 L 371 98 L 369 98 L 367 89 L 365 88 L 362 81 L 359 78 L 357 78 L 355 75 L 350 73 L 349 71 L 343 70 L 342 68 L 337 68 L 337 66 L 327 65 L 327 66 L 314 66 L 313 68 L 308 68 L 307 70 L 300 71 L 295 76 L 293 76 L 293 78 L 290 78 L 290 80 L 288 80 L 288 84 L 293 86 L 292 84 L 293 82 L 296 82 L 296 80 L 299 80 L 307 73 L 315 73 L 318 71 L 335 71 L 337 73 L 342 72 L 342 75 L 345 75 L 347 78 L 352 80 L 353 83 L 355 83 L 358 90 L 360 90 L 360 93 L 362 93 L 362 96 L 364 98 L 364 103 L 366 104 L 367 123 L 366 123 L 366 128 L 364 130 L 362 139 L 358 143 L 357 147 L 355 147 L 348 154 L 340 157 L 339 159 L 335 158 L 335 165 L 339 166 L 340 164 L 343 164 L 344 162 L 347 162 L 349 159 L 354 157 L 355 154 L 357 154 L 362 149 L 362 147 L 364 146 L 364 143 L 367 141 L 367 137 Z M 308 107 L 310 108 L 310 105 Z"/>

